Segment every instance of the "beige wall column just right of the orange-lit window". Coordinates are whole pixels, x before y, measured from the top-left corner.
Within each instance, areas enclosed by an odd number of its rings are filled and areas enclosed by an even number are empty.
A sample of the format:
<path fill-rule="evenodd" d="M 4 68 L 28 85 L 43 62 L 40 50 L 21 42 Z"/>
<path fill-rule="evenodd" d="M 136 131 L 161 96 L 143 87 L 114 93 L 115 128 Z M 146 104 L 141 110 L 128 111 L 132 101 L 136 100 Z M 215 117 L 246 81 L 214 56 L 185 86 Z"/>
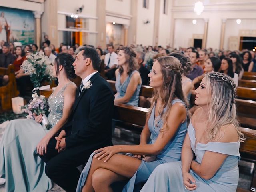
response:
<path fill-rule="evenodd" d="M 106 47 L 106 0 L 97 0 L 97 38 L 96 46 Z"/>

